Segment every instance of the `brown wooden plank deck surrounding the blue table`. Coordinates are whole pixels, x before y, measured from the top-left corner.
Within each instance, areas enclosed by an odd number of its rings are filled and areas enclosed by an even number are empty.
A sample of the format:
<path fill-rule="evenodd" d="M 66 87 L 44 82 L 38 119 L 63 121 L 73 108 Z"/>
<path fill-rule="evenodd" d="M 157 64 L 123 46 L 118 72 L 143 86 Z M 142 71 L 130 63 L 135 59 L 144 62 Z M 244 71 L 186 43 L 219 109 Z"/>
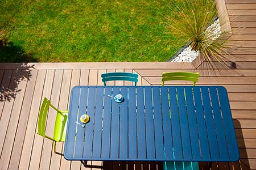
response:
<path fill-rule="evenodd" d="M 44 96 L 59 109 L 66 110 L 71 88 L 101 86 L 101 73 L 138 73 L 138 86 L 154 86 L 160 85 L 164 71 L 178 70 L 199 72 L 199 85 L 218 84 L 228 90 L 241 159 L 236 163 L 213 163 L 212 169 L 256 169 L 256 1 L 225 2 L 233 32 L 230 40 L 240 44 L 230 59 L 236 63 L 236 69 L 221 69 L 217 63 L 210 70 L 207 62 L 197 69 L 192 63 L 167 62 L 0 63 L 0 169 L 162 169 L 161 162 L 87 162 L 83 165 L 67 161 L 52 153 L 51 141 L 36 134 L 36 123 Z M 57 152 L 63 153 L 63 149 L 63 143 L 57 143 Z M 200 163 L 200 168 L 209 169 L 206 163 Z"/>

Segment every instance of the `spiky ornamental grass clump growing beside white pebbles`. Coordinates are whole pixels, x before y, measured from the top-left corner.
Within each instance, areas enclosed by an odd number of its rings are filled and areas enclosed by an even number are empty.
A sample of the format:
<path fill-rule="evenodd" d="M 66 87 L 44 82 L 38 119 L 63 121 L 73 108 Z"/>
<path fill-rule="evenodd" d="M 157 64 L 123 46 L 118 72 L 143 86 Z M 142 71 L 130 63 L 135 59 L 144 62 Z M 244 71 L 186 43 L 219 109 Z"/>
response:
<path fill-rule="evenodd" d="M 168 28 L 177 37 L 176 44 L 190 42 L 192 50 L 199 52 L 200 58 L 224 61 L 229 48 L 226 43 L 229 32 L 220 32 L 217 25 L 211 25 L 217 16 L 214 0 L 176 0 L 170 8 L 172 16 L 168 18 Z"/>

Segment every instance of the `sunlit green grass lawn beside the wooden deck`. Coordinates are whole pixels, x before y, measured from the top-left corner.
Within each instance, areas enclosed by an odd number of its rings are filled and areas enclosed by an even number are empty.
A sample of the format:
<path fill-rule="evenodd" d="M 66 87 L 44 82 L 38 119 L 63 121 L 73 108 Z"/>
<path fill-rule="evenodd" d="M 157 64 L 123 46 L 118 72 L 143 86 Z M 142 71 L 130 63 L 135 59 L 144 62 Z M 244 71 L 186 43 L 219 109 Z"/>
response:
<path fill-rule="evenodd" d="M 0 62 L 167 61 L 168 2 L 1 0 Z"/>

